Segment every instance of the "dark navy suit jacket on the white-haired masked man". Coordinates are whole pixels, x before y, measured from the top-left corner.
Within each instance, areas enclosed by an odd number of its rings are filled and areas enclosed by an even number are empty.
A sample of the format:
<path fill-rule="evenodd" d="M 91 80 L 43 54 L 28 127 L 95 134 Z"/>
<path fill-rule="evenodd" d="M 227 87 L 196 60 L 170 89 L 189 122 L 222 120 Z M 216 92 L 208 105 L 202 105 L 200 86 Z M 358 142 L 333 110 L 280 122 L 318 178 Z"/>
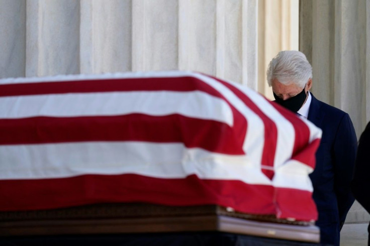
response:
<path fill-rule="evenodd" d="M 311 94 L 312 95 L 312 94 Z M 348 113 L 312 95 L 308 119 L 322 130 L 316 167 L 310 175 L 322 243 L 339 245 L 339 232 L 354 197 L 350 191 L 357 138 Z"/>

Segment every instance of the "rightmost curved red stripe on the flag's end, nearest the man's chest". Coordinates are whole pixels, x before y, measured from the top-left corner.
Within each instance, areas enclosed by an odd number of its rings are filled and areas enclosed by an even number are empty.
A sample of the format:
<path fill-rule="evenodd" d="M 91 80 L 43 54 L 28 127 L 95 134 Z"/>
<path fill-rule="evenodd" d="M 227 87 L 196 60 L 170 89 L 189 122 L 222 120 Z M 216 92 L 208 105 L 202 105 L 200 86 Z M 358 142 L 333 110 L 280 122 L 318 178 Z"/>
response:
<path fill-rule="evenodd" d="M 298 160 L 310 167 L 315 167 L 315 153 L 319 143 L 317 141 L 313 141 L 312 143 L 310 143 L 309 127 L 292 111 L 284 108 L 283 106 L 275 102 L 272 102 L 272 105 L 286 119 L 288 119 L 294 127 L 295 141 L 291 159 Z"/>

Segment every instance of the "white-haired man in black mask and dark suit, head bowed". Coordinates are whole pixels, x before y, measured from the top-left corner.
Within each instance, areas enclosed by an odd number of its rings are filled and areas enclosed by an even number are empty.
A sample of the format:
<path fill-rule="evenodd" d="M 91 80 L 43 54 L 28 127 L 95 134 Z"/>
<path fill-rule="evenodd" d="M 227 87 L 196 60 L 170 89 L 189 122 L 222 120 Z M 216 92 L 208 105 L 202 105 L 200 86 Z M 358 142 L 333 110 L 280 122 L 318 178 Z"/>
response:
<path fill-rule="evenodd" d="M 342 227 L 354 198 L 350 191 L 357 138 L 349 115 L 316 99 L 312 67 L 299 51 L 281 51 L 267 68 L 275 102 L 297 112 L 322 130 L 316 167 L 310 175 L 319 218 L 321 243 L 339 245 Z"/>

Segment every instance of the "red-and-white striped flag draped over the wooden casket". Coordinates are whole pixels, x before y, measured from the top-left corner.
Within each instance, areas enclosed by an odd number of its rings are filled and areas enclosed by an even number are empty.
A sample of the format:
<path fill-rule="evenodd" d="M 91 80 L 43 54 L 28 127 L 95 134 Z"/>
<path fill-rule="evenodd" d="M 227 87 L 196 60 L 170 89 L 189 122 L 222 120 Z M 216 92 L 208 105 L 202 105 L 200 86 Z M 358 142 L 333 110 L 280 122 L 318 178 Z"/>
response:
<path fill-rule="evenodd" d="M 0 80 L 0 211 L 217 204 L 317 219 L 321 130 L 193 72 Z"/>

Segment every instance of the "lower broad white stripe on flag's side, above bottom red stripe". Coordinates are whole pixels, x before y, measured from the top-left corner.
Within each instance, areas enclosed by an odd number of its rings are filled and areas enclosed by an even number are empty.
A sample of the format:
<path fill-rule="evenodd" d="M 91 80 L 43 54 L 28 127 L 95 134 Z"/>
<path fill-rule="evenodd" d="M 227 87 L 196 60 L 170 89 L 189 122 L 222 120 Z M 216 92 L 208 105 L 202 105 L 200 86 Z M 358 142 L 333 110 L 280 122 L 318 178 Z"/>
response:
<path fill-rule="evenodd" d="M 180 143 L 86 142 L 0 146 L 0 179 L 135 173 L 158 178 L 240 180 L 271 184 L 245 156 L 187 149 Z"/>

